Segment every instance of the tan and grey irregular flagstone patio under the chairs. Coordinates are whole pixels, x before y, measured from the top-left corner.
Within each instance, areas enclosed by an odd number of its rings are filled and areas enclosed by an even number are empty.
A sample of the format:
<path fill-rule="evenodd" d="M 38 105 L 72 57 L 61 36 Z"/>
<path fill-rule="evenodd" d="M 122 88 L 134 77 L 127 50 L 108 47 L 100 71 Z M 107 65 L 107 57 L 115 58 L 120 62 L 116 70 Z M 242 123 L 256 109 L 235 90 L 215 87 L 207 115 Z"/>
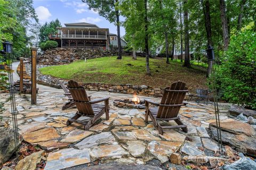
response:
<path fill-rule="evenodd" d="M 95 94 L 96 98 L 109 93 Z M 9 94 L 0 94 L 5 102 Z M 105 96 L 104 96 L 105 95 Z M 127 96 L 122 95 L 123 98 Z M 180 109 L 188 133 L 167 130 L 163 135 L 153 123 L 145 123 L 144 109 L 125 109 L 114 106 L 113 101 L 121 95 L 111 94 L 110 118 L 101 120 L 84 131 L 80 124 L 66 121 L 76 113 L 76 107 L 62 111 L 67 97 L 58 92 L 39 91 L 37 105 L 30 105 L 30 95 L 16 95 L 19 133 L 23 140 L 48 152 L 45 169 L 62 169 L 99 161 L 104 163 L 148 164 L 150 160 L 165 163 L 173 152 L 184 156 L 214 156 L 218 150 L 205 128 L 215 121 L 214 106 L 188 102 Z M 93 95 L 92 95 L 93 98 Z M 146 98 L 146 97 L 141 97 Z M 150 98 L 159 101 L 158 98 Z M 229 104 L 220 104 L 220 119 L 228 119 Z M 4 104 L 1 116 L 11 125 L 9 103 Z M 81 117 L 85 120 L 88 117 Z M 175 122 L 162 122 L 174 125 Z"/>

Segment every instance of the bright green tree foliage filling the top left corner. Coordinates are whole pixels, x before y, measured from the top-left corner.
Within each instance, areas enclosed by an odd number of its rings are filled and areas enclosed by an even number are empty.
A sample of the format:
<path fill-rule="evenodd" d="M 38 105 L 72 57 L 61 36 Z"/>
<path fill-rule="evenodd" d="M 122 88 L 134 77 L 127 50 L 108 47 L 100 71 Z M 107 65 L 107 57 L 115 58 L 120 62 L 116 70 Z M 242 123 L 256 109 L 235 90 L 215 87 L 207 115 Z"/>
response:
<path fill-rule="evenodd" d="M 16 58 L 29 43 L 26 31 L 32 19 L 38 21 L 32 0 L 0 0 L 0 41 L 13 43 Z"/>

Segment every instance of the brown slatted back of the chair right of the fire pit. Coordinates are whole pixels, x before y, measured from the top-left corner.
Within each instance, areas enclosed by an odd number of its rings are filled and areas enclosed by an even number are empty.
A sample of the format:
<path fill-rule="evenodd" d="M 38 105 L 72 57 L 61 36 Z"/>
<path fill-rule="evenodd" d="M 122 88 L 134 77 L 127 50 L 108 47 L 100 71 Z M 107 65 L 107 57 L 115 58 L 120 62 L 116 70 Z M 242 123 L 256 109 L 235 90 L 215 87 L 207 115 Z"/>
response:
<path fill-rule="evenodd" d="M 163 105 L 179 105 L 182 104 L 186 93 L 186 83 L 181 81 L 172 83 L 171 86 L 164 89 L 163 97 L 159 105 L 157 118 L 177 117 L 181 106 L 163 106 Z"/>

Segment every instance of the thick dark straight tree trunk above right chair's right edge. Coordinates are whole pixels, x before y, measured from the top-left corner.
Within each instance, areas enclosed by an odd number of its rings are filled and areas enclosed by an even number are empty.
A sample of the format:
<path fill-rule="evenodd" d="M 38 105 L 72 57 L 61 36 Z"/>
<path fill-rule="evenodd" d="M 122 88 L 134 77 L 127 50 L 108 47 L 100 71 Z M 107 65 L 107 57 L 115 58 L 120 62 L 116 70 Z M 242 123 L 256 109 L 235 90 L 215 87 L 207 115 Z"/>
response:
<path fill-rule="evenodd" d="M 184 30 L 185 30 L 185 62 L 184 66 L 190 68 L 190 58 L 189 58 L 189 29 L 188 29 L 188 0 L 183 0 L 183 8 L 184 8 Z"/>

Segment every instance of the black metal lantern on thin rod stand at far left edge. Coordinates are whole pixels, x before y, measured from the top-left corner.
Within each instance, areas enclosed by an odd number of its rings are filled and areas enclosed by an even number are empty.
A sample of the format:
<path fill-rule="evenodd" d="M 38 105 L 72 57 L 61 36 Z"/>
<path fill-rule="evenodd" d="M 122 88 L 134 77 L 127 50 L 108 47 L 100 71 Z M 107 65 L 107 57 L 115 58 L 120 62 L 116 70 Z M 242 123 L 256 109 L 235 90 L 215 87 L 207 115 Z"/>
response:
<path fill-rule="evenodd" d="M 17 110 L 16 110 L 13 75 L 12 75 L 13 48 L 12 48 L 12 43 L 10 43 L 9 41 L 4 41 L 4 43 L 2 44 L 3 44 L 3 50 L 1 50 L 1 54 L 3 54 L 4 60 L 6 61 L 6 64 L 7 64 L 7 73 L 8 73 L 8 80 L 9 80 L 9 93 L 10 93 L 10 103 L 11 103 L 11 112 L 12 112 L 14 142 L 15 142 L 15 148 L 19 149 L 19 131 L 18 131 Z"/>

